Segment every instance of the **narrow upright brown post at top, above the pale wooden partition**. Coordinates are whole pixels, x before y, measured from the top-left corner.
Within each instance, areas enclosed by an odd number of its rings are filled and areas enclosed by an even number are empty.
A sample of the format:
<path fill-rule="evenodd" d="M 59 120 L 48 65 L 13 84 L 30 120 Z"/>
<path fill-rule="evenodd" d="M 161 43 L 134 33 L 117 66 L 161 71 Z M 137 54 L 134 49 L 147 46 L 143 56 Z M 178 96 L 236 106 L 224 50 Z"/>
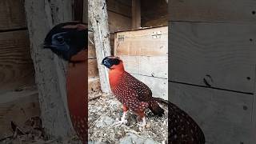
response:
<path fill-rule="evenodd" d="M 141 27 L 141 0 L 132 0 L 132 29 Z"/>

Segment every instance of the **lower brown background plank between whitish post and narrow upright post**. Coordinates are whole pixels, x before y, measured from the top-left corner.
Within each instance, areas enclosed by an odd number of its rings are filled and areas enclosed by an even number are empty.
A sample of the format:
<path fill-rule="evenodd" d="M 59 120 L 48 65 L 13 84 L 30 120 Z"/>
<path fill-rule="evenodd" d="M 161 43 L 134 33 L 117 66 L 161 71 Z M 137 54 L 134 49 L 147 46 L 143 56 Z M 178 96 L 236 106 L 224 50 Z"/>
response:
<path fill-rule="evenodd" d="M 121 14 L 116 14 L 111 11 L 108 11 L 107 13 L 110 33 L 131 29 L 131 18 L 127 18 Z"/>

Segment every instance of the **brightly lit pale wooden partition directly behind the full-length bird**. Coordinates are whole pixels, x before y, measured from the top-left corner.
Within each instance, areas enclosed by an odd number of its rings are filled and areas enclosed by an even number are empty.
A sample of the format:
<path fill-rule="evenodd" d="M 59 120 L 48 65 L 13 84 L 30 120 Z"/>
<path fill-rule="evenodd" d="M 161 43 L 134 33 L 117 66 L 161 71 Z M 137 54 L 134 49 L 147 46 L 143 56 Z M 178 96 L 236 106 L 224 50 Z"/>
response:
<path fill-rule="evenodd" d="M 114 55 L 127 72 L 150 87 L 154 97 L 168 100 L 167 26 L 116 33 Z"/>

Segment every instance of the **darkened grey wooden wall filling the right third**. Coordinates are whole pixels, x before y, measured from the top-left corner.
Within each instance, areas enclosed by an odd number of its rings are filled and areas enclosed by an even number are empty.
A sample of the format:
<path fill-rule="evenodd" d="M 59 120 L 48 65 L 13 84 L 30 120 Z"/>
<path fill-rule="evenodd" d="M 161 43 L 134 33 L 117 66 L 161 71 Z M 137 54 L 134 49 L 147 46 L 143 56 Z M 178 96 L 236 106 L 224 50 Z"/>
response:
<path fill-rule="evenodd" d="M 256 2 L 169 2 L 170 101 L 206 143 L 256 142 Z"/>

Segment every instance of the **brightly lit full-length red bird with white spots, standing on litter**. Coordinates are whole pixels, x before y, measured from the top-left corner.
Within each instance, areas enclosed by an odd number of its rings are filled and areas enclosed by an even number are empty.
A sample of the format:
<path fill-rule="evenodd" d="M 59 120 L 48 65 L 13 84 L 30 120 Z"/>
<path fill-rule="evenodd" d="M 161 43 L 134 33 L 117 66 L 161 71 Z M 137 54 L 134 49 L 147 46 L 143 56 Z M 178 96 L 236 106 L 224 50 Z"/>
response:
<path fill-rule="evenodd" d="M 106 57 L 102 64 L 110 69 L 110 88 L 118 101 L 122 102 L 123 115 L 121 123 L 125 123 L 127 110 L 133 110 L 142 118 L 142 126 L 146 126 L 144 111 L 149 108 L 153 114 L 162 116 L 164 110 L 152 97 L 148 86 L 126 72 L 122 60 L 118 57 Z"/>

